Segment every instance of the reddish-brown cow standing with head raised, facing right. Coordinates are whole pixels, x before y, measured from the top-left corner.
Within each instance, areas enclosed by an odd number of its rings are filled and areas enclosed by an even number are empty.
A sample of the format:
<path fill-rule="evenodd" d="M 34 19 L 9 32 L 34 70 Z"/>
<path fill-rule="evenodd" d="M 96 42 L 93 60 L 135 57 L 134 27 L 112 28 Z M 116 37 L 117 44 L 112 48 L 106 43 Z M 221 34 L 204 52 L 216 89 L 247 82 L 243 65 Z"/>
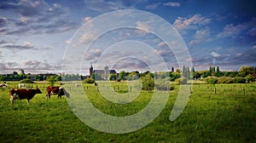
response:
<path fill-rule="evenodd" d="M 29 100 L 32 100 L 32 98 L 36 94 L 42 94 L 40 89 L 10 89 L 9 95 L 10 95 L 10 102 L 12 105 L 14 105 L 15 100 L 27 100 L 27 103 L 29 103 Z"/>

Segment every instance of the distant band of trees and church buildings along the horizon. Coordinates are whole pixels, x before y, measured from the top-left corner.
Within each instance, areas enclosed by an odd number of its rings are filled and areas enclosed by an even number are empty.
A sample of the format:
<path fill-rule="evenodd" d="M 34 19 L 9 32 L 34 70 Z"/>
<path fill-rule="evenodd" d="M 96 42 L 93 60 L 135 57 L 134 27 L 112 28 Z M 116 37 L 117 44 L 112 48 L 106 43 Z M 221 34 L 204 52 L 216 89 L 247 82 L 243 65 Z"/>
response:
<path fill-rule="evenodd" d="M 140 77 L 144 77 L 147 74 L 151 74 L 151 77 L 170 77 L 170 81 L 176 81 L 180 77 L 184 77 L 187 80 L 193 79 L 203 79 L 207 77 L 219 78 L 220 83 L 249 83 L 254 82 L 256 79 L 256 67 L 254 66 L 241 66 L 238 72 L 225 72 L 220 71 L 218 66 L 210 66 L 209 70 L 196 71 L 194 66 L 189 68 L 189 66 L 183 66 L 182 70 L 171 68 L 169 72 L 116 72 L 114 69 L 108 69 L 105 66 L 102 70 L 94 69 L 90 63 L 89 75 L 82 76 L 79 74 L 65 74 L 65 73 L 40 73 L 31 74 L 25 73 L 23 69 L 17 72 L 9 74 L 0 74 L 0 81 L 20 81 L 22 79 L 31 79 L 32 81 L 45 81 L 48 77 L 53 76 L 56 81 L 79 81 L 84 79 L 94 79 L 94 80 L 111 80 L 111 81 L 121 81 L 121 80 L 137 80 Z"/>

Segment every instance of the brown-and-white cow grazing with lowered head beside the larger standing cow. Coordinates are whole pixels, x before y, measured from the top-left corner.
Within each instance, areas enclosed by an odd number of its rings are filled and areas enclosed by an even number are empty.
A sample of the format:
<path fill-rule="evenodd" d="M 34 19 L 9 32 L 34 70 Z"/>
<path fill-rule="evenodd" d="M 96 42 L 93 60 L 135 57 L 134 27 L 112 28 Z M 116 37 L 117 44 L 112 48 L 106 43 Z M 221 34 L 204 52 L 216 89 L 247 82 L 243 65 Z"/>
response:
<path fill-rule="evenodd" d="M 53 87 L 53 86 L 47 87 L 46 98 L 50 98 L 51 94 L 58 94 L 59 98 L 61 98 L 62 95 L 66 95 L 67 98 L 70 97 L 67 91 L 62 87 Z"/>

